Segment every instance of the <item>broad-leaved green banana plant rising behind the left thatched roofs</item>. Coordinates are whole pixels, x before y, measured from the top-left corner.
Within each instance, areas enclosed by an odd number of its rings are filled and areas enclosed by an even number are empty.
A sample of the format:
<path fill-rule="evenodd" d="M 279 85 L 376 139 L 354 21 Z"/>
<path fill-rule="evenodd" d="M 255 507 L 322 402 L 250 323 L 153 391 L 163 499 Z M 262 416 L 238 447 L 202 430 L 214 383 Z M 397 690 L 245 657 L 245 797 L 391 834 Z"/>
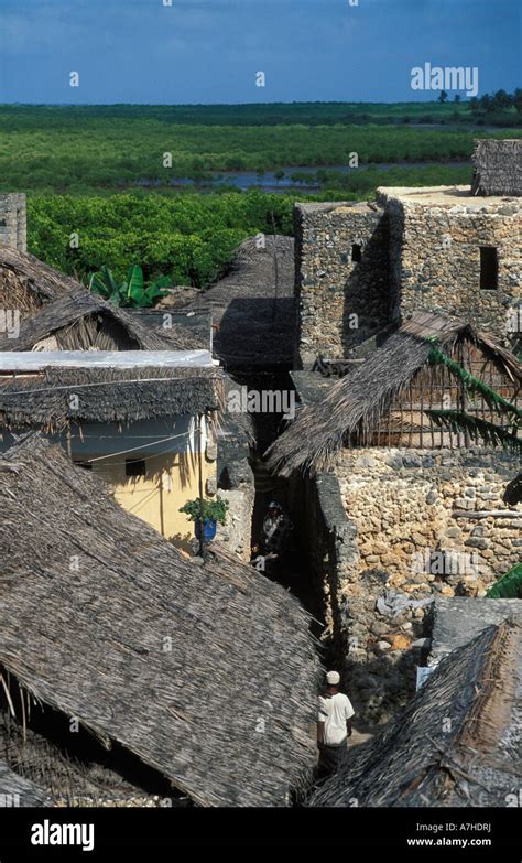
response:
<path fill-rule="evenodd" d="M 143 270 L 138 265 L 131 265 L 127 271 L 127 278 L 119 282 L 115 279 L 109 267 L 101 267 L 89 279 L 89 290 L 102 296 L 113 305 L 131 309 L 150 309 L 157 300 L 166 295 L 164 288 L 171 284 L 168 276 L 162 276 L 154 281 L 145 283 Z"/>

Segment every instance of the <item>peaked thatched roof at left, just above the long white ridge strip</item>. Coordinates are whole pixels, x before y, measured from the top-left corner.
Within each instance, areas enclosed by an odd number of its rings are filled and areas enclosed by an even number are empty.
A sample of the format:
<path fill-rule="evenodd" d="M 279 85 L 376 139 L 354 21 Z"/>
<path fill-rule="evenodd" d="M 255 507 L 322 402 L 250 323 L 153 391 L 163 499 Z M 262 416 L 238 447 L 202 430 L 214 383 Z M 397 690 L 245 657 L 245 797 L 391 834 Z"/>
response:
<path fill-rule="evenodd" d="M 0 262 L 1 266 L 1 262 Z M 65 278 L 65 277 L 64 277 Z M 0 335 L 3 350 L 191 350 L 202 339 L 189 330 L 172 323 L 168 330 L 151 327 L 138 315 L 67 281 L 67 290 L 30 316 L 24 316 L 17 338 Z M 12 302 L 12 301 L 9 301 Z M 15 306 L 8 305 L 13 309 Z M 205 347 L 207 345 L 204 345 Z"/>

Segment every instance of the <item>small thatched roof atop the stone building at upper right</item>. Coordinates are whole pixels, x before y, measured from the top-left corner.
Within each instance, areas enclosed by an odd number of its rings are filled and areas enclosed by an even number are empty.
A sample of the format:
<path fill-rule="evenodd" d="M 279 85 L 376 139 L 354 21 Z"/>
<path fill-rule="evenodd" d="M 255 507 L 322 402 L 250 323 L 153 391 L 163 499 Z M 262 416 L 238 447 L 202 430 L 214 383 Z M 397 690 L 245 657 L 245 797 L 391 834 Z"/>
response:
<path fill-rule="evenodd" d="M 522 138 L 481 138 L 472 160 L 472 195 L 522 195 Z"/>

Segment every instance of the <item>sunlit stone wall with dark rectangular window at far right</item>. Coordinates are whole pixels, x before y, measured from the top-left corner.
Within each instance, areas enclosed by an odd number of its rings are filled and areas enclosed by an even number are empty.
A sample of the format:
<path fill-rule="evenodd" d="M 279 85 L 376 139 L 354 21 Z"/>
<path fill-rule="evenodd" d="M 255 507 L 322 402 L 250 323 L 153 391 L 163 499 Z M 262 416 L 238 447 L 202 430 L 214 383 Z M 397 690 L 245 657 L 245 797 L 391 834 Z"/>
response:
<path fill-rule="evenodd" d="M 385 192 L 385 191 L 384 191 Z M 413 195 L 379 202 L 390 219 L 392 315 L 424 308 L 463 317 L 510 341 L 522 304 L 522 204 L 516 198 Z M 426 197 L 428 197 L 426 195 Z M 480 204 L 479 204 L 480 201 Z M 497 248 L 498 288 L 480 288 L 480 247 Z"/>

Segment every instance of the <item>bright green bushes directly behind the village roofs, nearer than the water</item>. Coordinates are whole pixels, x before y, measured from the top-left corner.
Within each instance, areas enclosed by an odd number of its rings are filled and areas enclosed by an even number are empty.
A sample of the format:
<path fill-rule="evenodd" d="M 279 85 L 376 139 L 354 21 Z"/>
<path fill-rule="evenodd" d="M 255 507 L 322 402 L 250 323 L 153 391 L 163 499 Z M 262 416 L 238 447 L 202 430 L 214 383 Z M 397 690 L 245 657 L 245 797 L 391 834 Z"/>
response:
<path fill-rule="evenodd" d="M 140 263 L 145 281 L 202 288 L 224 272 L 233 249 L 258 231 L 292 233 L 293 198 L 247 194 L 112 195 L 34 197 L 29 201 L 29 248 L 33 255 L 86 283 L 109 267 L 123 280 Z M 78 248 L 69 247 L 72 233 Z"/>

